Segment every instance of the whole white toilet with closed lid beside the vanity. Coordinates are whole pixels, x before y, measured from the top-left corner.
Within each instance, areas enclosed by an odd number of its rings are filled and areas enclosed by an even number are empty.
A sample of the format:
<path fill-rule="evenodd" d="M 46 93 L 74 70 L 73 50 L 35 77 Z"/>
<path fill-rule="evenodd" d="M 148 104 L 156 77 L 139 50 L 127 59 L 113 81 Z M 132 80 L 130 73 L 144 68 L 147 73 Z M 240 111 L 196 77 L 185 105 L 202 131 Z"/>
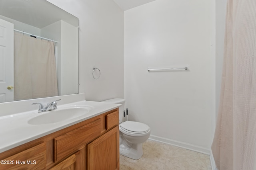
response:
<path fill-rule="evenodd" d="M 119 107 L 119 149 L 120 154 L 138 160 L 143 155 L 142 143 L 150 136 L 150 127 L 136 121 L 123 121 L 124 99 L 114 98 L 102 102 L 122 104 Z M 128 114 L 129 116 L 129 114 Z"/>

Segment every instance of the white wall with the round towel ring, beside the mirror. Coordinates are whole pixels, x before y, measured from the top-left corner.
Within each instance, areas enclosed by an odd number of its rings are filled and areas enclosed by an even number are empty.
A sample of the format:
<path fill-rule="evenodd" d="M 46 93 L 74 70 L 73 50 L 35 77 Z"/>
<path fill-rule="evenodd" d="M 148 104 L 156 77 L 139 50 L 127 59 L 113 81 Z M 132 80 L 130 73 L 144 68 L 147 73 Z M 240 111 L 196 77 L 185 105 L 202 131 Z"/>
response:
<path fill-rule="evenodd" d="M 79 93 L 93 101 L 123 98 L 123 11 L 113 0 L 48 1 L 79 18 Z"/>

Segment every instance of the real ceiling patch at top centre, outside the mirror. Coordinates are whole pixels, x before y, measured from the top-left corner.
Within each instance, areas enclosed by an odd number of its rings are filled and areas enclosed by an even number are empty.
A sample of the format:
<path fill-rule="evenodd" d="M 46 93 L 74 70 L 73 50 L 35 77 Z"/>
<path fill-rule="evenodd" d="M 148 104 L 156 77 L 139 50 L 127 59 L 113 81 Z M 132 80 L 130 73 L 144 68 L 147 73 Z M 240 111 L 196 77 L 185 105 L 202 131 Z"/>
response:
<path fill-rule="evenodd" d="M 135 8 L 136 6 L 140 6 L 143 4 L 147 4 L 148 2 L 152 2 L 155 0 L 113 0 L 120 6 L 122 10 L 129 10 L 131 8 Z"/>

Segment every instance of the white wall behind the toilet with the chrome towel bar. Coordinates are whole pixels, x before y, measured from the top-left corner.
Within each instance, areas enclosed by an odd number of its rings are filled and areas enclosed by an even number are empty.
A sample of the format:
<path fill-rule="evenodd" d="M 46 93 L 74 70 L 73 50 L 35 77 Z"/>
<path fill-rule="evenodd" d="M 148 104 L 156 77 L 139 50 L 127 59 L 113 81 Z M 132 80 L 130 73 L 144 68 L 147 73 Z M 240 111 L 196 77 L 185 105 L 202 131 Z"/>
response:
<path fill-rule="evenodd" d="M 215 2 L 156 0 L 124 12 L 124 98 L 154 139 L 210 150 L 215 125 Z M 147 68 L 188 66 L 188 71 Z M 188 145 L 187 145 L 188 144 Z"/>

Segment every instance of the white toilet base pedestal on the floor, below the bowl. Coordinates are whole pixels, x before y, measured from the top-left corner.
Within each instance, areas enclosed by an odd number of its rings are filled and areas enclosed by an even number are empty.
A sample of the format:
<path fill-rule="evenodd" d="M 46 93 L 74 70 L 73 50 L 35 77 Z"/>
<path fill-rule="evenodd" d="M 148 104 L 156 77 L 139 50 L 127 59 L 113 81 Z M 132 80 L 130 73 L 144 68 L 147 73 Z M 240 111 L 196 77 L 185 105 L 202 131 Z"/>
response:
<path fill-rule="evenodd" d="M 143 155 L 142 143 L 132 144 L 131 147 L 127 147 L 126 145 L 121 144 L 119 146 L 119 152 L 123 156 L 138 160 Z"/>

